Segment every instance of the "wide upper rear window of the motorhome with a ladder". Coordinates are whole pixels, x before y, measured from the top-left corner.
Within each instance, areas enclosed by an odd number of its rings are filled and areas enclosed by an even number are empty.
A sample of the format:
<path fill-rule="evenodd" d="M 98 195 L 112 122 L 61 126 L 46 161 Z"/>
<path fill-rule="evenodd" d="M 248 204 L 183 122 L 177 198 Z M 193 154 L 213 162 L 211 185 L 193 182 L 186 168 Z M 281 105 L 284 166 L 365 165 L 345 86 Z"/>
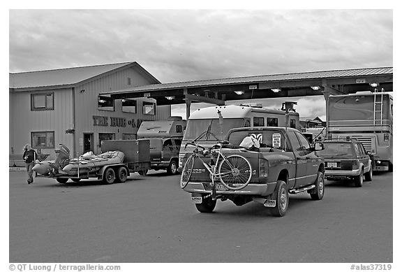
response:
<path fill-rule="evenodd" d="M 376 101 L 380 102 L 380 95 Z M 329 96 L 329 120 L 373 120 L 374 96 Z M 380 106 L 378 106 L 380 110 Z M 389 119 L 389 95 L 383 95 L 382 119 Z M 377 118 L 379 115 L 377 115 Z"/>

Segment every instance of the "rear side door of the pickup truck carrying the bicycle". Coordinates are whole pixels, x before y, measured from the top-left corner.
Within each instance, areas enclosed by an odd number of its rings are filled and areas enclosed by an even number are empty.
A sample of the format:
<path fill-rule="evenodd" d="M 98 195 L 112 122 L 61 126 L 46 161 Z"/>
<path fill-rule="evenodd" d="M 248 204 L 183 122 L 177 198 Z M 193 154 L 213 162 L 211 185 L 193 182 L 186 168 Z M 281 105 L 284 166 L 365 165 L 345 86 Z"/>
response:
<path fill-rule="evenodd" d="M 295 188 L 303 187 L 306 184 L 306 173 L 307 173 L 306 152 L 303 151 L 303 148 L 301 147 L 301 144 L 295 134 L 295 131 L 289 131 L 288 136 L 290 145 L 292 145 L 292 150 L 295 153 L 296 157 Z"/>

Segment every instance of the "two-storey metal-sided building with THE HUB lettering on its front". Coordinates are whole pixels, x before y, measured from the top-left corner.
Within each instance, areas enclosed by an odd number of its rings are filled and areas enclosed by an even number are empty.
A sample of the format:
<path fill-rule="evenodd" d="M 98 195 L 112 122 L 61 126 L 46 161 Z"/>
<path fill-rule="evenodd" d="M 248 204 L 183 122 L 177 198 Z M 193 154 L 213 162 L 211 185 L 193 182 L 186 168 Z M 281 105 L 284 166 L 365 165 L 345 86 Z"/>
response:
<path fill-rule="evenodd" d="M 159 80 L 137 62 L 10 73 L 10 165 L 22 159 L 24 144 L 48 159 L 64 144 L 71 157 L 100 152 L 101 141 L 132 139 L 143 120 L 167 120 L 170 105 L 151 98 L 114 100 L 101 93 Z"/>

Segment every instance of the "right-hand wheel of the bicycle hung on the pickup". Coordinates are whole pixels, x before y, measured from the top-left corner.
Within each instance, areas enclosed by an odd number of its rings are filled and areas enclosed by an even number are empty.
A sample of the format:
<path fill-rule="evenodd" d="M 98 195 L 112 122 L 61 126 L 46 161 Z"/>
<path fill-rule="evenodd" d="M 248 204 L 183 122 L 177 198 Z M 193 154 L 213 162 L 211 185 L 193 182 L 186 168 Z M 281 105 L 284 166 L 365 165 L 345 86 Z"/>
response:
<path fill-rule="evenodd" d="M 240 155 L 230 155 L 219 164 L 218 177 L 228 189 L 243 189 L 251 180 L 251 164 Z"/>

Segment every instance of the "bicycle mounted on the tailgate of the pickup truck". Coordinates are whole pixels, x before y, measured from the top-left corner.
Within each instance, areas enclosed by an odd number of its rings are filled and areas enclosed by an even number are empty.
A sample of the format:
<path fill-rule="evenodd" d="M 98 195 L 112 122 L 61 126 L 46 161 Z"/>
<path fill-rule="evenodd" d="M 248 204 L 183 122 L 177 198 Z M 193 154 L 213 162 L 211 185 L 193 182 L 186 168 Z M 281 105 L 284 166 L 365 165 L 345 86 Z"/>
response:
<path fill-rule="evenodd" d="M 223 155 L 223 143 L 218 143 L 218 149 L 211 148 L 211 150 L 206 150 L 206 148 L 195 143 L 186 143 L 185 148 L 187 145 L 194 145 L 195 149 L 193 150 L 193 154 L 188 157 L 183 166 L 183 171 L 180 178 L 181 189 L 184 189 L 191 179 L 195 157 L 202 162 L 205 169 L 207 169 L 209 172 L 213 197 L 215 197 L 216 194 L 216 178 L 221 181 L 223 186 L 230 190 L 243 189 L 250 182 L 252 174 L 250 162 L 248 162 L 248 160 L 241 155 L 234 154 L 229 155 L 228 157 Z M 202 150 L 199 150 L 198 148 L 202 148 Z M 209 164 L 204 162 L 204 160 L 200 157 L 200 154 L 204 156 L 211 154 Z"/>

